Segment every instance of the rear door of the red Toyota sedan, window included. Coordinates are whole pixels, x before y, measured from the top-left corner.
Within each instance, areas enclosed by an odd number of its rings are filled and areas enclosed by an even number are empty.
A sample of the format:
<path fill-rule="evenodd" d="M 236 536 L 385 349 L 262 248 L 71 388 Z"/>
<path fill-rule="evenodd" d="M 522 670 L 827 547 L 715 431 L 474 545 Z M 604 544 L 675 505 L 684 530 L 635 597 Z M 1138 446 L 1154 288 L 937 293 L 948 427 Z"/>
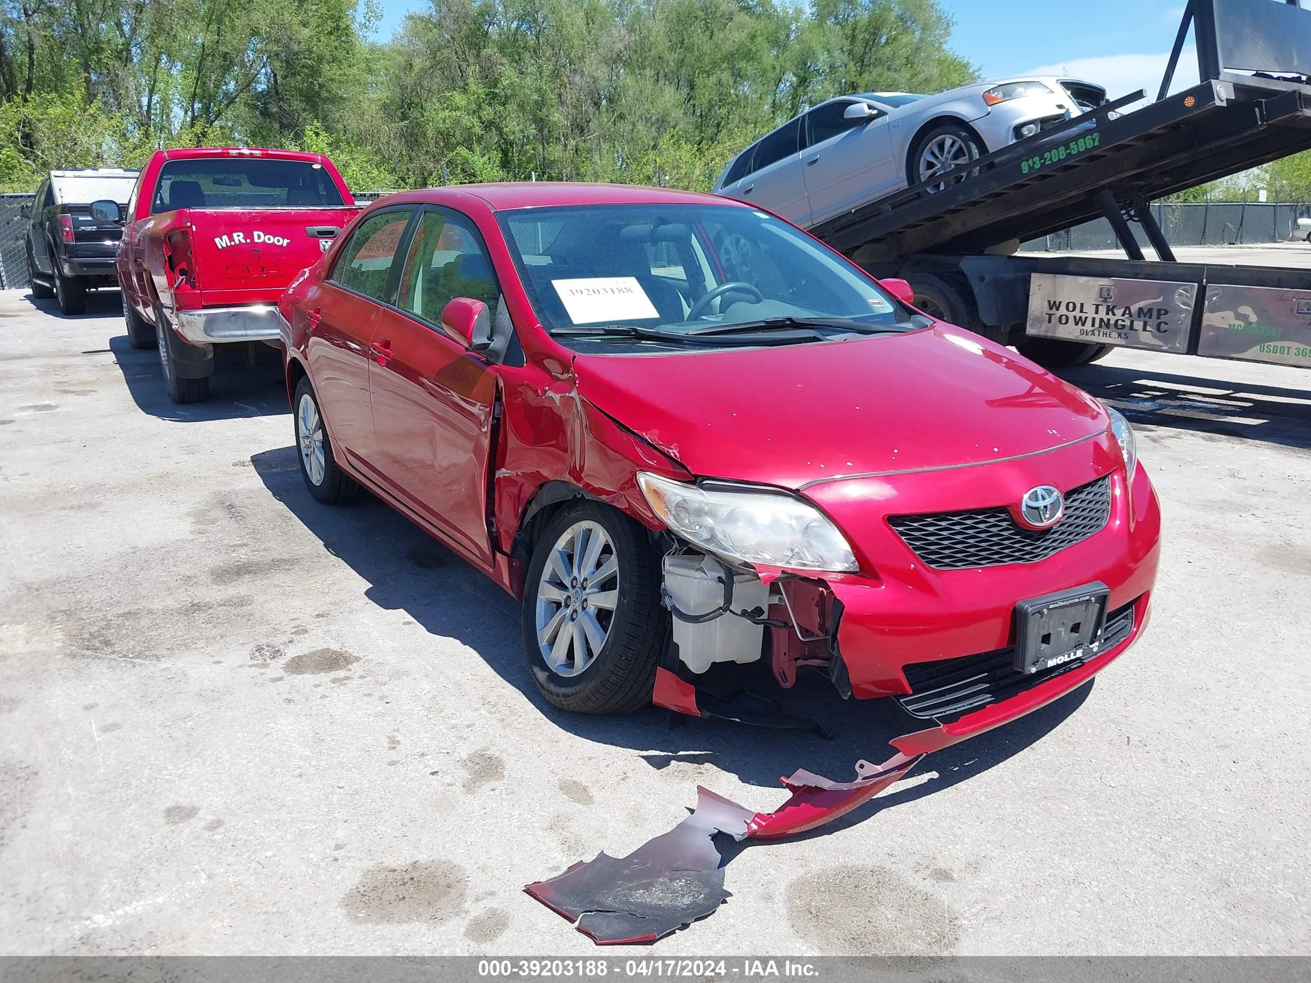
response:
<path fill-rule="evenodd" d="M 370 345 L 382 305 L 395 288 L 409 206 L 372 212 L 351 232 L 328 275 L 305 292 L 309 381 L 338 451 L 374 471 L 378 442 L 368 398 Z"/>

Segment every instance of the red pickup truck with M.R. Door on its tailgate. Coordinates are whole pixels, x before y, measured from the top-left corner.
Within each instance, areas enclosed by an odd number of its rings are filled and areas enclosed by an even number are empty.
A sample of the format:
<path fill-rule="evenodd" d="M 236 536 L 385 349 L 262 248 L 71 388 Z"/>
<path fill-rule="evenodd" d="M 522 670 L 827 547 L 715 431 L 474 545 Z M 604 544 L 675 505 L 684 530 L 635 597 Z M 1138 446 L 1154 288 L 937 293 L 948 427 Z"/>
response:
<path fill-rule="evenodd" d="M 357 210 L 319 153 L 155 152 L 127 203 L 117 271 L 128 342 L 159 346 L 174 402 L 208 397 L 215 345 L 279 345 L 275 301 Z"/>

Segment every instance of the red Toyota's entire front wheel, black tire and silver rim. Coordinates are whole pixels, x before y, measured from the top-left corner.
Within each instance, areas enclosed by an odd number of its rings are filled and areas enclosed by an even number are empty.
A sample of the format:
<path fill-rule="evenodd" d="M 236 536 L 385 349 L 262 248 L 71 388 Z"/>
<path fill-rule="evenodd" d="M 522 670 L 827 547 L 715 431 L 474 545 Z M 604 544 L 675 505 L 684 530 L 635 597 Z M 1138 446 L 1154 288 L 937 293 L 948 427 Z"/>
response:
<path fill-rule="evenodd" d="M 581 571 L 590 569 L 587 575 L 599 578 L 595 582 L 583 587 L 587 577 L 561 575 L 560 566 L 548 570 L 555 556 L 572 557 L 570 549 L 582 549 L 583 564 L 598 541 L 590 568 Z M 572 571 L 572 560 L 569 566 Z M 573 585 L 572 579 L 579 582 Z M 574 713 L 631 713 L 650 704 L 670 626 L 659 579 L 646 531 L 623 512 L 576 499 L 551 518 L 528 564 L 522 628 L 528 674 L 553 706 Z M 582 655 L 574 647 L 579 640 Z M 557 665 L 548 658 L 556 658 Z"/>

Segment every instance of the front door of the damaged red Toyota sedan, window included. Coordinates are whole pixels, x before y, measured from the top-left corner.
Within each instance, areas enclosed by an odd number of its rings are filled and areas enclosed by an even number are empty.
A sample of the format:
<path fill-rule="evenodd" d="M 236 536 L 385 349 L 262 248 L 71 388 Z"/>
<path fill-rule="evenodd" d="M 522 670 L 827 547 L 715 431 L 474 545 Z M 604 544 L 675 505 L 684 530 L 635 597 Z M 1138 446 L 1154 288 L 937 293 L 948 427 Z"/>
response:
<path fill-rule="evenodd" d="M 501 291 L 481 236 L 429 207 L 413 232 L 396 305 L 374 330 L 368 367 L 378 467 L 392 492 L 460 552 L 492 566 L 488 467 L 497 371 L 442 328 L 454 298 L 496 313 Z"/>

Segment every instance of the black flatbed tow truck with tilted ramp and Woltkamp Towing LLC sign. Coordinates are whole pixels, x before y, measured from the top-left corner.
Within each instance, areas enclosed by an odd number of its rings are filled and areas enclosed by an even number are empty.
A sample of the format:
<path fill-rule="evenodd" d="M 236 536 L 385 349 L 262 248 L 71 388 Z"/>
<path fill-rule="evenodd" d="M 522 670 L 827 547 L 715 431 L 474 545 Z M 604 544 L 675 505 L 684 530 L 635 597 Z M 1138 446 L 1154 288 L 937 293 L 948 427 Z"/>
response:
<path fill-rule="evenodd" d="M 1189 26 L 1201 83 L 1167 94 Z M 1148 202 L 1311 148 L 1311 9 L 1190 0 L 1155 102 L 1135 92 L 810 229 L 926 313 L 1049 368 L 1114 347 L 1311 368 L 1311 270 L 1184 263 Z M 1017 254 L 1099 215 L 1125 260 Z M 1134 236 L 1142 228 L 1156 254 Z"/>

